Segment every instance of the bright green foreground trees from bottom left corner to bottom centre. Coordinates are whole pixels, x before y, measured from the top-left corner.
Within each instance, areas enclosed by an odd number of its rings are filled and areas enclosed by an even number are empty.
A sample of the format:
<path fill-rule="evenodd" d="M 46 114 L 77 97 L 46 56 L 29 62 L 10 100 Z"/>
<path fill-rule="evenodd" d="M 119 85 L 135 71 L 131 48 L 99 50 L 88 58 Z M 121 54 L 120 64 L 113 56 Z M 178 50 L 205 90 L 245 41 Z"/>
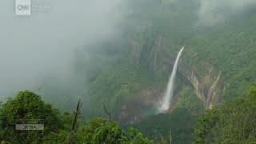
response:
<path fill-rule="evenodd" d="M 57 109 L 28 90 L 9 98 L 0 107 L 0 140 L 10 143 L 153 143 L 138 130 L 122 130 L 117 122 L 93 118 L 77 123 L 71 130 L 74 115 L 61 115 Z M 43 120 L 44 130 L 15 130 L 20 121 Z M 72 137 L 70 137 L 72 135 Z"/>

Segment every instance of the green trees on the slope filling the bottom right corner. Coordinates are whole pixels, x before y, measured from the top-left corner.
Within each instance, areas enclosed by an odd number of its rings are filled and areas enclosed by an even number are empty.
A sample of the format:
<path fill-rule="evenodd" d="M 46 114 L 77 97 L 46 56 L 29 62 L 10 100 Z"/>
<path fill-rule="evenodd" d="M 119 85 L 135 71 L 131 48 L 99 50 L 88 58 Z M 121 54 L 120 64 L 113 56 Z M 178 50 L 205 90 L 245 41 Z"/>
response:
<path fill-rule="evenodd" d="M 246 98 L 222 103 L 199 118 L 194 143 L 256 142 L 256 87 Z"/>

